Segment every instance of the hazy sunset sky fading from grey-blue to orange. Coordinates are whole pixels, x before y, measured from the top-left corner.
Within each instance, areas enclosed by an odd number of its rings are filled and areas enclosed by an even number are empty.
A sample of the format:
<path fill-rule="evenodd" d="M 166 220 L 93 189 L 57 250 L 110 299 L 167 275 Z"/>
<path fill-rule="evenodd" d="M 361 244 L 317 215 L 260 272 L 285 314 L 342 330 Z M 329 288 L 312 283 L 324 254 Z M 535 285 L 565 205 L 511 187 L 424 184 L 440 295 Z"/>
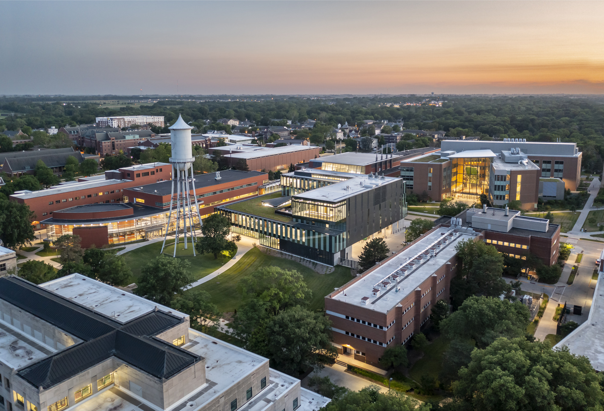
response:
<path fill-rule="evenodd" d="M 0 94 L 604 93 L 602 1 L 0 7 Z"/>

